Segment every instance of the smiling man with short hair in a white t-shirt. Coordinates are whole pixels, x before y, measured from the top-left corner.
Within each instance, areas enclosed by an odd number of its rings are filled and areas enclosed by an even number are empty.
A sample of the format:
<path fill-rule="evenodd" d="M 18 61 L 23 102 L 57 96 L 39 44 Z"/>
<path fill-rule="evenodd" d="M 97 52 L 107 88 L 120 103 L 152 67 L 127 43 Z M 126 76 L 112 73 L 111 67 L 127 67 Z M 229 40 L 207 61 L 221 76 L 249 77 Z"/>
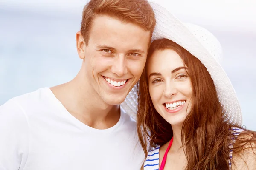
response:
<path fill-rule="evenodd" d="M 122 103 L 142 74 L 155 26 L 146 0 L 91 0 L 77 76 L 0 107 L 0 170 L 136 170 L 144 153 Z"/>

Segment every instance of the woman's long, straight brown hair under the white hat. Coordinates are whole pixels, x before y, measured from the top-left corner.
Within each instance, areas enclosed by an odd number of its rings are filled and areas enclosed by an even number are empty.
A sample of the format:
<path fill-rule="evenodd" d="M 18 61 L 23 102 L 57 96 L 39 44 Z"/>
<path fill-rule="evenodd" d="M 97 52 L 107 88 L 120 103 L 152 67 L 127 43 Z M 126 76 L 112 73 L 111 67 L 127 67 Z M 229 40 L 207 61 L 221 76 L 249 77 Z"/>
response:
<path fill-rule="evenodd" d="M 188 161 L 186 170 L 229 170 L 229 161 L 232 162 L 229 145 L 236 137 L 232 131 L 243 128 L 224 121 L 224 110 L 218 100 L 214 82 L 200 60 L 168 39 L 152 42 L 148 58 L 154 51 L 163 49 L 172 49 L 180 55 L 184 65 L 188 67 L 192 82 L 192 110 L 187 114 L 181 130 L 183 150 Z M 147 63 L 139 81 L 137 114 L 137 131 L 145 157 L 148 154 L 148 142 L 150 147 L 156 147 L 165 144 L 173 136 L 172 126 L 153 106 L 146 71 Z M 246 144 L 255 142 L 256 135 L 253 131 L 244 129 L 243 134 L 247 134 L 247 137 L 236 139 L 233 153 L 241 153 Z"/>

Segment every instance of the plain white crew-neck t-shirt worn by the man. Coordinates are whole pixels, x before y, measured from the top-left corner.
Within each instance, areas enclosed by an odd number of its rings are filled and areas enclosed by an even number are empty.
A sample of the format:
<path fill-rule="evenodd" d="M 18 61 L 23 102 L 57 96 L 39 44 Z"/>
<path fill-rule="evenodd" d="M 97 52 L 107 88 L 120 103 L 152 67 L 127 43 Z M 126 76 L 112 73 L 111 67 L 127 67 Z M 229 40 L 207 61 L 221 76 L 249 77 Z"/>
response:
<path fill-rule="evenodd" d="M 121 108 L 109 129 L 73 117 L 49 88 L 0 106 L 0 170 L 140 170 L 136 122 Z"/>

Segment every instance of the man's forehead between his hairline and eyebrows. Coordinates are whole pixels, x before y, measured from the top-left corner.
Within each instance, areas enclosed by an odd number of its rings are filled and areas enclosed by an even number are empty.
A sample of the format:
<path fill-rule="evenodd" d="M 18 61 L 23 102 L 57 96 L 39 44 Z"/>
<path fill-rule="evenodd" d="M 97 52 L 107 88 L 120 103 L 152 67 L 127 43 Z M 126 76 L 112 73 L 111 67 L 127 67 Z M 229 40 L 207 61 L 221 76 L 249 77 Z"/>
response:
<path fill-rule="evenodd" d="M 93 43 L 95 47 L 147 53 L 150 35 L 150 31 L 135 24 L 122 23 L 116 18 L 104 15 L 96 17 L 88 43 Z"/>

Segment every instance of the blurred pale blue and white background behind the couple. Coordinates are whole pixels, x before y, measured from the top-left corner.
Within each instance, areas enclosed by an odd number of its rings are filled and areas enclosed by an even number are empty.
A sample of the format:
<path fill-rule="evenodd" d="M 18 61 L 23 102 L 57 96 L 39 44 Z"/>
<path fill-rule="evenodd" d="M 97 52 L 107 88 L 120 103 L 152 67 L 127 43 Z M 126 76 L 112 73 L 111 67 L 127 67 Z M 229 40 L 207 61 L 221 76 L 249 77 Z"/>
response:
<path fill-rule="evenodd" d="M 154 0 L 221 42 L 222 66 L 241 103 L 243 125 L 256 130 L 256 1 Z M 75 34 L 87 0 L 0 0 L 0 105 L 73 79 L 81 67 Z"/>

